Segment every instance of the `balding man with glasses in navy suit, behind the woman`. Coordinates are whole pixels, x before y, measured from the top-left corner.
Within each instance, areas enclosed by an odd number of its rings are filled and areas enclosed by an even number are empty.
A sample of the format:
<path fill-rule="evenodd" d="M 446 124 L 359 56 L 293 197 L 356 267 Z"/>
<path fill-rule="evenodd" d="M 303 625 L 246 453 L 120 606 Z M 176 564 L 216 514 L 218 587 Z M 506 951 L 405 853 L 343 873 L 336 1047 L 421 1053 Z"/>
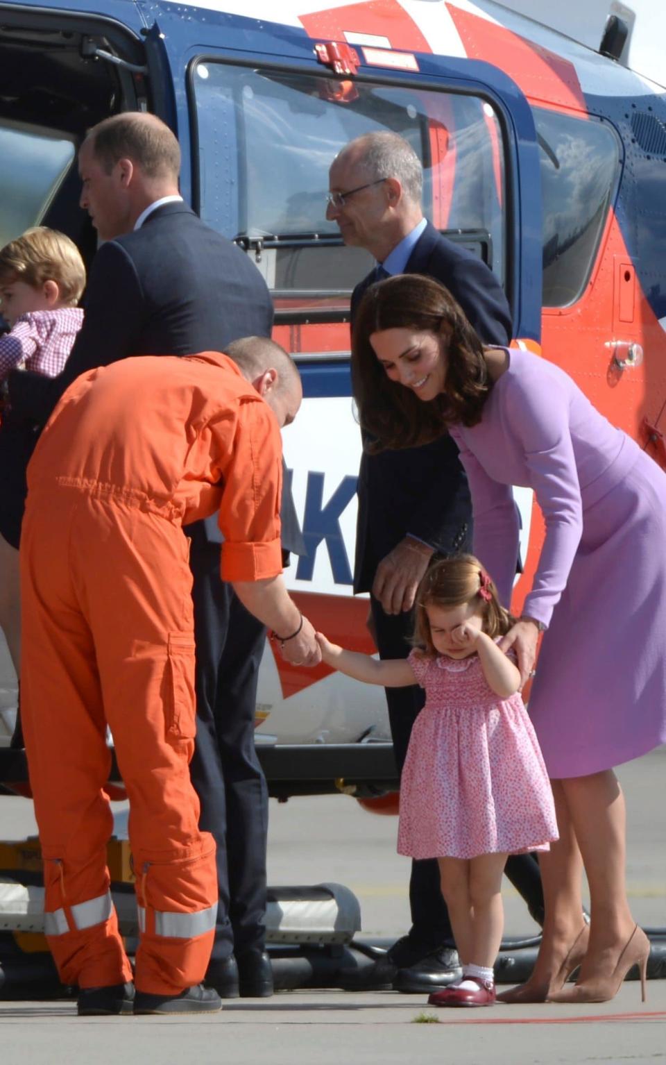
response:
<path fill-rule="evenodd" d="M 442 236 L 421 210 L 422 170 L 411 146 L 394 133 L 350 142 L 333 161 L 327 217 L 345 244 L 366 248 L 377 266 L 354 289 L 351 322 L 365 290 L 393 274 L 426 274 L 442 281 L 485 343 L 506 344 L 511 312 L 499 282 L 470 251 Z M 373 636 L 382 658 L 406 657 L 412 607 L 435 552 L 467 551 L 471 505 L 457 448 L 447 435 L 422 447 L 364 454 L 359 474 L 354 591 L 370 592 Z M 386 690 L 398 768 L 423 705 L 418 687 Z M 414 862 L 412 929 L 388 951 L 380 982 L 429 992 L 460 973 L 436 859 Z"/>

